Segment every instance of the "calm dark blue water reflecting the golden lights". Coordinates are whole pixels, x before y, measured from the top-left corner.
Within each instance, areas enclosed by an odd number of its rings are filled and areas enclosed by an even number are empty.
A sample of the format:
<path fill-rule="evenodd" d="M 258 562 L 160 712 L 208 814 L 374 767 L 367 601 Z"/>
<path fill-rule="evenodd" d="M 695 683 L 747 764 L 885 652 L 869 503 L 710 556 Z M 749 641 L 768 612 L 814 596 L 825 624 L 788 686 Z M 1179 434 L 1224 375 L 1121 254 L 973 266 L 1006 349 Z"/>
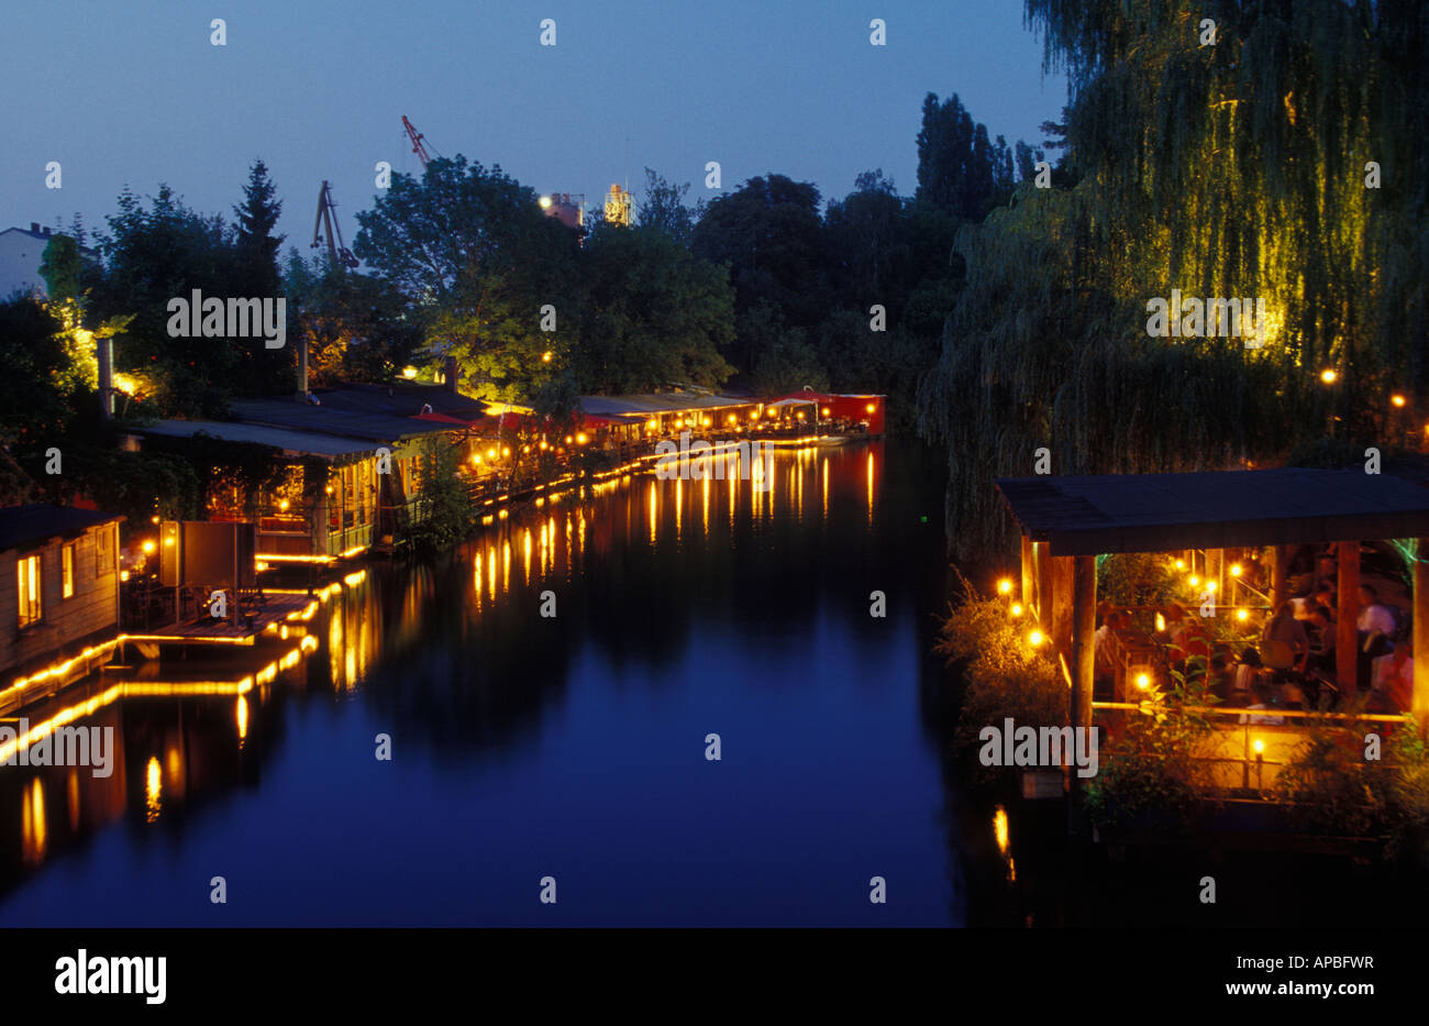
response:
<path fill-rule="evenodd" d="M 780 454 L 769 494 L 636 477 L 352 574 L 310 652 L 106 674 L 79 722 L 111 777 L 0 769 L 0 925 L 977 919 L 1000 863 L 927 656 L 942 487 L 897 443 Z"/>

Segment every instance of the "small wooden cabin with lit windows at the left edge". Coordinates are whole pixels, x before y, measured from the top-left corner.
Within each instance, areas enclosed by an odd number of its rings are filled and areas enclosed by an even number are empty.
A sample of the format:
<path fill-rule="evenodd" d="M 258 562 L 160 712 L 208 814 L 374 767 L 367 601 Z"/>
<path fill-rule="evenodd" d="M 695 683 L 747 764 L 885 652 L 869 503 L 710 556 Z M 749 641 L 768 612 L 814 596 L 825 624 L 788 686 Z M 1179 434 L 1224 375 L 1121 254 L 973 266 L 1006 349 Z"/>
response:
<path fill-rule="evenodd" d="M 71 654 L 117 627 L 120 520 L 67 506 L 0 509 L 0 670 Z"/>

